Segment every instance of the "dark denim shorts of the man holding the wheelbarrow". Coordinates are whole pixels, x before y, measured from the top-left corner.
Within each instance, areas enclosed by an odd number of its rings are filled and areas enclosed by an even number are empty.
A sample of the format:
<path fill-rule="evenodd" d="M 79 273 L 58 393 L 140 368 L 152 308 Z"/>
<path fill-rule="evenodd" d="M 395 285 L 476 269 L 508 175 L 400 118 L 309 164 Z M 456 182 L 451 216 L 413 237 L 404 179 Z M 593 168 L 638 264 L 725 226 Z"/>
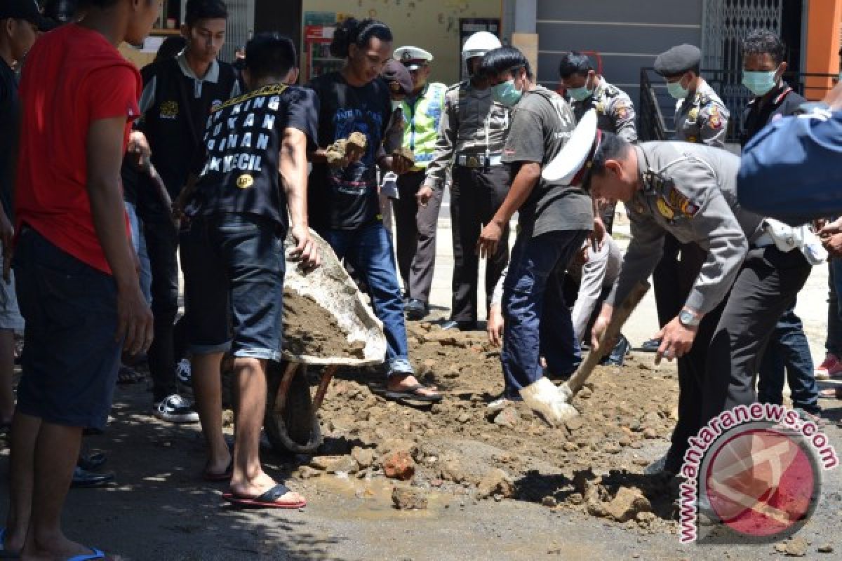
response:
<path fill-rule="evenodd" d="M 280 360 L 284 235 L 253 214 L 197 216 L 180 234 L 190 352 Z"/>

